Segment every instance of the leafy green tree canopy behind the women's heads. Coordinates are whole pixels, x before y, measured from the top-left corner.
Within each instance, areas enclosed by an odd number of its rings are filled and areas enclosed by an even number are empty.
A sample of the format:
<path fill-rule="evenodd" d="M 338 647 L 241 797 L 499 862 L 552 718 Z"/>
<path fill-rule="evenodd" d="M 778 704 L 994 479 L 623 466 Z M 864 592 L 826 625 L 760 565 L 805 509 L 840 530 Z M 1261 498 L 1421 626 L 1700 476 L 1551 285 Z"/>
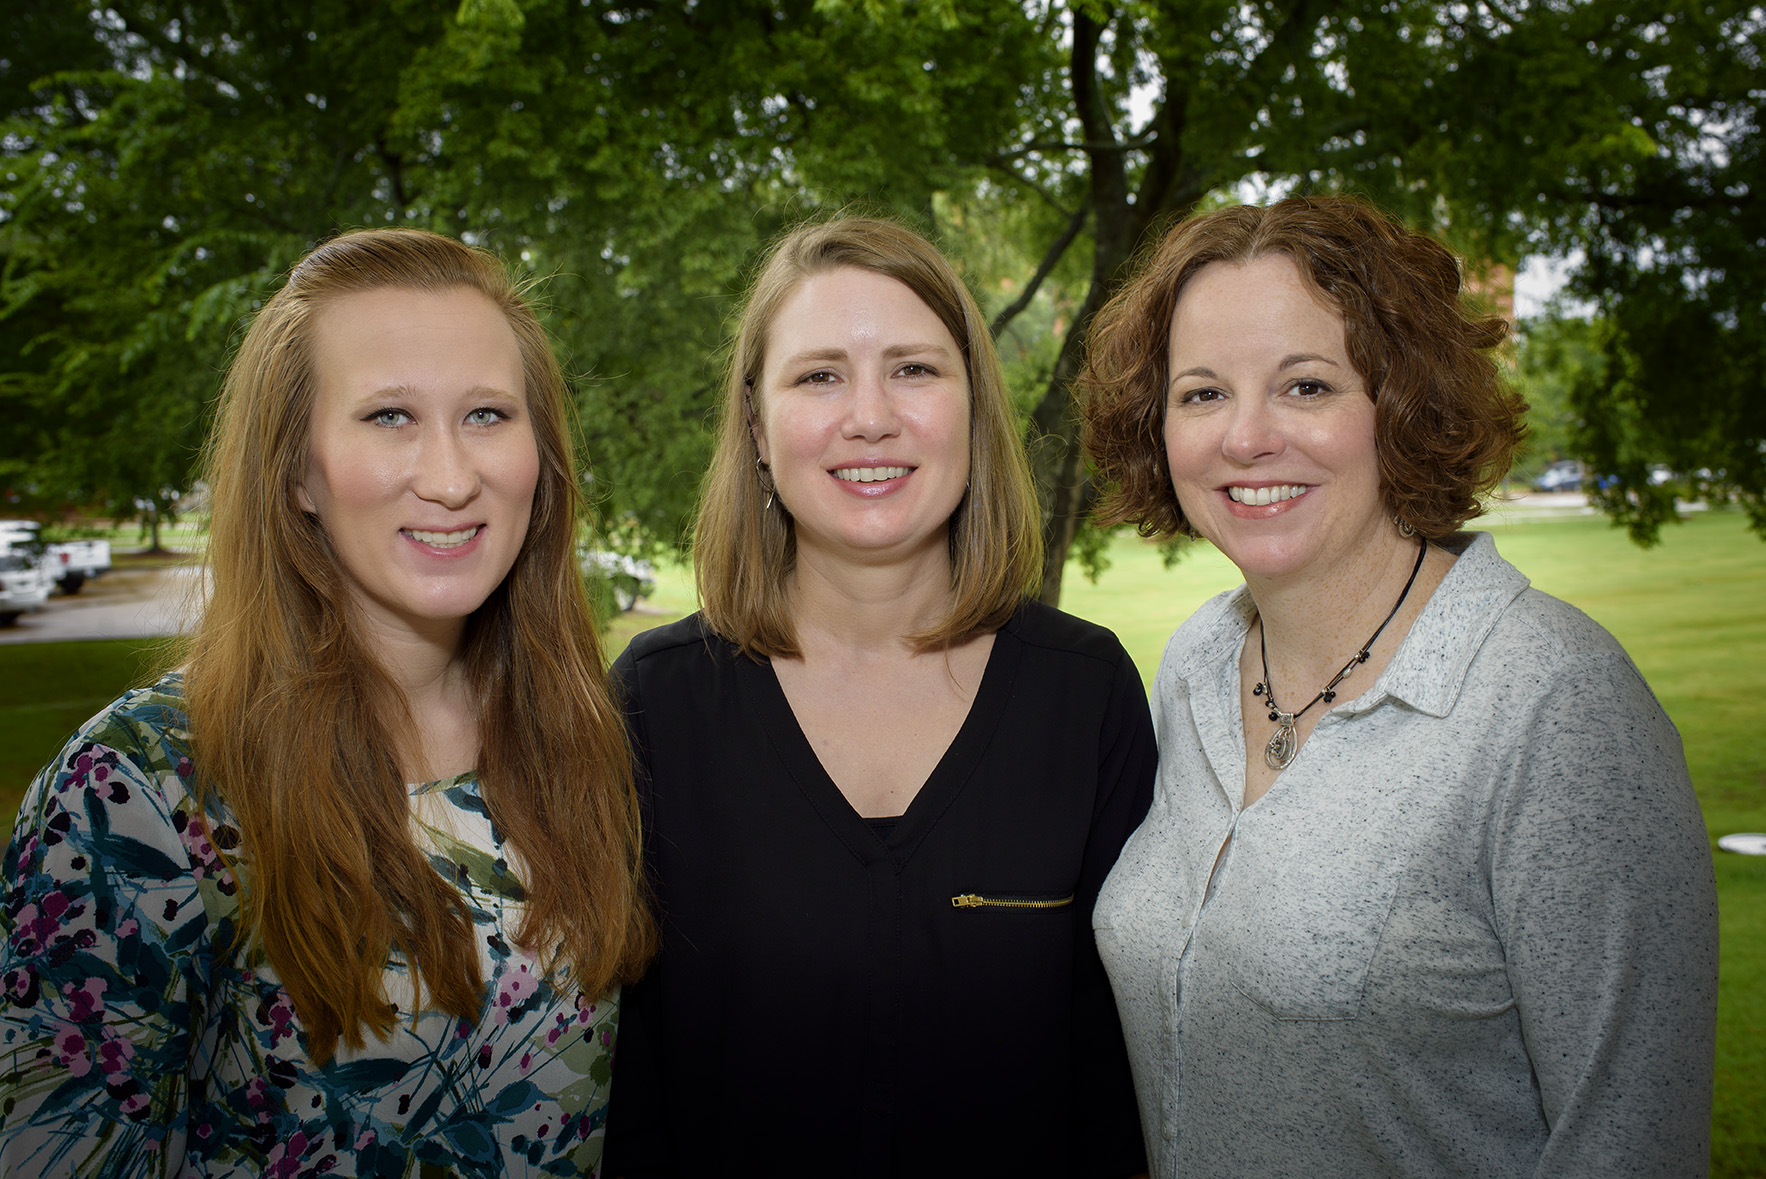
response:
<path fill-rule="evenodd" d="M 1757 9 L 1632 0 L 35 4 L 0 58 L 0 487 L 182 489 L 245 314 L 337 229 L 547 279 L 602 528 L 678 544 L 758 252 L 837 208 L 964 267 L 1026 413 L 1044 597 L 1090 499 L 1086 323 L 1173 219 L 1355 191 L 1469 258 L 1581 251 L 1609 374 L 1570 392 L 1607 510 L 1648 468 L 1766 529 Z M 1669 505 L 1671 507 L 1671 505 Z"/>

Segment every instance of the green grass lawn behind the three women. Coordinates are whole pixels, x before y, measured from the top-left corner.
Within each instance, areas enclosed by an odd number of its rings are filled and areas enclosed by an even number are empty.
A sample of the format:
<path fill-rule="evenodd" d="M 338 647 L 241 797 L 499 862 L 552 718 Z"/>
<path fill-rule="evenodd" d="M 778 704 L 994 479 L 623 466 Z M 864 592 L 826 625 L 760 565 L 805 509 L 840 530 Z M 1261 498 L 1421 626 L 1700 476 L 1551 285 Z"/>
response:
<path fill-rule="evenodd" d="M 1637 549 L 1593 517 L 1498 522 L 1503 556 L 1540 590 L 1574 602 L 1637 660 L 1679 727 L 1713 842 L 1766 831 L 1766 544 L 1736 512 L 1701 512 Z M 1171 570 L 1132 537 L 1111 549 L 1098 584 L 1068 572 L 1063 607 L 1121 635 L 1151 680 L 1171 630 L 1201 602 L 1238 584 L 1206 544 Z M 615 620 L 608 653 L 694 605 L 691 575 L 659 570 L 646 612 Z M 143 674 L 154 642 L 0 646 L 0 810 L 88 715 Z M 1766 856 L 1717 854 L 1722 905 L 1717 1112 L 1711 1174 L 1766 1175 Z"/>

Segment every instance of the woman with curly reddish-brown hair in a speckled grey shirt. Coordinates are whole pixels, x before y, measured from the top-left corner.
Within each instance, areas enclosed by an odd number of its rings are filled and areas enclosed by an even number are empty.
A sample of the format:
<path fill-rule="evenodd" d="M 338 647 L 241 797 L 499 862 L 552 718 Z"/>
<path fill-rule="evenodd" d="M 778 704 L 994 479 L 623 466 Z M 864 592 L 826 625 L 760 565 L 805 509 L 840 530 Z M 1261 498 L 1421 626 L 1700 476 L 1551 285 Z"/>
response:
<path fill-rule="evenodd" d="M 1625 651 L 1460 526 L 1522 404 L 1365 203 L 1178 226 L 1098 316 L 1104 517 L 1245 584 L 1171 637 L 1093 921 L 1155 1175 L 1692 1175 L 1717 902 Z"/>

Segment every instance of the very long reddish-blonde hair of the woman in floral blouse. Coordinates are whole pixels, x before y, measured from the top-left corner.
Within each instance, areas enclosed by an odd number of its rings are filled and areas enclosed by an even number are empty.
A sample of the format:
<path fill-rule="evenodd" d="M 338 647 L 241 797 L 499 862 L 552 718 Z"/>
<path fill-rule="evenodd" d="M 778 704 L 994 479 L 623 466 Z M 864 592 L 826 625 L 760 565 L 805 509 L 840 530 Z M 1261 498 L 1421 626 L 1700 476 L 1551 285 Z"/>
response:
<path fill-rule="evenodd" d="M 521 348 L 540 455 L 526 538 L 468 620 L 479 777 L 523 865 L 516 941 L 599 995 L 653 953 L 623 724 L 576 563 L 581 510 L 565 385 L 544 328 L 491 254 L 417 229 L 346 233 L 258 312 L 205 452 L 210 590 L 184 674 L 196 789 L 237 815 L 242 944 L 254 939 L 316 1061 L 397 1020 L 404 957 L 419 1008 L 477 1020 L 484 978 L 466 905 L 411 833 L 399 734 L 410 706 L 376 662 L 318 519 L 300 512 L 320 309 L 373 289 L 484 295 Z M 565 978 L 567 976 L 567 978 Z M 415 1013 L 413 1013 L 415 1015 Z"/>

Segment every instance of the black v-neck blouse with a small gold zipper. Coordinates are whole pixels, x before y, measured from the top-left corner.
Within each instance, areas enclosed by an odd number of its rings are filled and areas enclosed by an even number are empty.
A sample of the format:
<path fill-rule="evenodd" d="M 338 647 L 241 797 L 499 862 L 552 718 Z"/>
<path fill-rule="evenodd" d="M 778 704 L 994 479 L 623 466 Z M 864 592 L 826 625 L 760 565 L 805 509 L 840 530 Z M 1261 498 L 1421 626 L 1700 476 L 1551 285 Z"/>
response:
<path fill-rule="evenodd" d="M 1158 762 L 1113 634 L 1021 609 L 883 831 L 698 616 L 615 681 L 662 953 L 625 990 L 604 1175 L 1144 1170 L 1091 941 Z"/>

